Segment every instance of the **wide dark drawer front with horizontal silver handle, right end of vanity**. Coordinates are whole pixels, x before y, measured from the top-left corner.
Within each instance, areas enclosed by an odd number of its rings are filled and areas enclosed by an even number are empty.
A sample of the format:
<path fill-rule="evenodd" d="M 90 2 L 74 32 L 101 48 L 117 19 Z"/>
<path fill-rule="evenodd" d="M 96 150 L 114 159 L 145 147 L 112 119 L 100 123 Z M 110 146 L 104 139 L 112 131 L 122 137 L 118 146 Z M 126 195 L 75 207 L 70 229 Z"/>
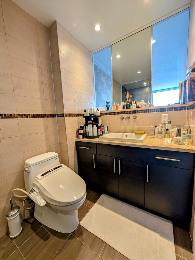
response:
<path fill-rule="evenodd" d="M 193 169 L 194 154 L 165 150 L 145 149 L 145 162 L 177 168 Z"/>

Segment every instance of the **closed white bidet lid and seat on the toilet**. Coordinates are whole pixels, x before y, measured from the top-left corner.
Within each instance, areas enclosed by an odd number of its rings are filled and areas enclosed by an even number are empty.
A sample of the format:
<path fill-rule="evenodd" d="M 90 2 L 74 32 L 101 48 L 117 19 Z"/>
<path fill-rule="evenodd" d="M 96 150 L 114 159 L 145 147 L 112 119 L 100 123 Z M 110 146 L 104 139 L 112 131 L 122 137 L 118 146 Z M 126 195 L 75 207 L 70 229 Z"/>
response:
<path fill-rule="evenodd" d="M 51 204 L 73 204 L 86 193 L 84 180 L 64 164 L 37 175 L 33 183 Z"/>

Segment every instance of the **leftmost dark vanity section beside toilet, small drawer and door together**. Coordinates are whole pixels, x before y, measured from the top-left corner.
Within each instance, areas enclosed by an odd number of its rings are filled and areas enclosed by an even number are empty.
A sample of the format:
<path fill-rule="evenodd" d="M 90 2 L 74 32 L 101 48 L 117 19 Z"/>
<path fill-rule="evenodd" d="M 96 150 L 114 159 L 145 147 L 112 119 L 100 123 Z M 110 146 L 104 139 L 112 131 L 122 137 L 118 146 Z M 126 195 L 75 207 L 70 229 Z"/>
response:
<path fill-rule="evenodd" d="M 98 191 L 98 173 L 96 144 L 76 142 L 79 175 L 86 183 L 87 189 Z"/>

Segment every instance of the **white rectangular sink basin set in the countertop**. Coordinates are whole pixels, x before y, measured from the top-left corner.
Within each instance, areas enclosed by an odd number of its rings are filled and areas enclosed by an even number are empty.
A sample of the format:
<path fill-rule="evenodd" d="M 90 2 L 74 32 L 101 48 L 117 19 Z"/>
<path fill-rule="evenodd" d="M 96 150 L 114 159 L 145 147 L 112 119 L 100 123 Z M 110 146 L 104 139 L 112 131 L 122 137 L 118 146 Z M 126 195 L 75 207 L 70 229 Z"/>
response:
<path fill-rule="evenodd" d="M 135 135 L 133 133 L 109 133 L 104 136 L 100 136 L 100 140 L 110 140 L 119 142 L 131 142 L 131 143 L 144 143 L 147 134 Z"/>

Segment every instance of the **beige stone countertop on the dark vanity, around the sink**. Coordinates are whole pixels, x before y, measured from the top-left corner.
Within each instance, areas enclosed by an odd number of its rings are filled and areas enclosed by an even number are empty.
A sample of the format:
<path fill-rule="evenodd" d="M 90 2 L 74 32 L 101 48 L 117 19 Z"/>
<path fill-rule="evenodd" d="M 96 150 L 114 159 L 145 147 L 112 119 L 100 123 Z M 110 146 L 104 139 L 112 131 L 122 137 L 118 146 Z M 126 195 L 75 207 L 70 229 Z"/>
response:
<path fill-rule="evenodd" d="M 148 149 L 157 149 L 157 150 L 168 150 L 168 151 L 176 151 L 176 152 L 185 152 L 185 153 L 195 154 L 195 147 L 193 145 L 189 145 L 189 147 L 187 147 L 184 144 L 174 144 L 173 142 L 166 144 L 166 143 L 162 142 L 163 139 L 150 138 L 149 136 L 147 136 L 144 143 L 108 141 L 108 140 L 100 140 L 99 138 L 93 138 L 93 139 L 90 139 L 90 138 L 84 138 L 84 139 L 75 138 L 75 141 L 86 142 L 86 143 L 112 144 L 112 145 L 139 147 L 139 148 L 148 148 Z"/>

